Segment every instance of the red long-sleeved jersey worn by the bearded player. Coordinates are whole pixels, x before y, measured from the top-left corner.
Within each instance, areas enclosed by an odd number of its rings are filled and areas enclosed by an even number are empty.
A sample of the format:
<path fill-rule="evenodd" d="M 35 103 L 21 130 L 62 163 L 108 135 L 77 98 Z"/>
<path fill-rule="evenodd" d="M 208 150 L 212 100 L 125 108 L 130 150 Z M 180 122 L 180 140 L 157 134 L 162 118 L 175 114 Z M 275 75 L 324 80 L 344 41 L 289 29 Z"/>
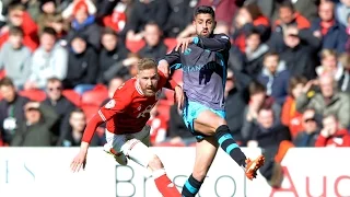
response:
<path fill-rule="evenodd" d="M 160 99 L 162 88 L 175 89 L 177 83 L 167 81 L 159 71 L 160 80 L 154 96 L 144 96 L 136 78 L 120 85 L 113 99 L 100 108 L 88 124 L 83 141 L 90 142 L 96 127 L 106 121 L 106 129 L 116 135 L 135 134 L 142 130 L 150 118 L 150 112 Z"/>

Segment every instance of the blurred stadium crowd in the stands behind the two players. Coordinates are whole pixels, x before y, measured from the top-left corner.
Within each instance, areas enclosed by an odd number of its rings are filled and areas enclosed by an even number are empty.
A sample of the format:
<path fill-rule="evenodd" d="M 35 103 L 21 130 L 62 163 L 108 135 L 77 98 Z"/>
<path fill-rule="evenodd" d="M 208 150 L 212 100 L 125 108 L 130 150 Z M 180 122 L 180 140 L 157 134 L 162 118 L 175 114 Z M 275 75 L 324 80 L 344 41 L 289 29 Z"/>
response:
<path fill-rule="evenodd" d="M 350 147 L 350 0 L 2 0 L 0 146 L 79 146 L 140 58 L 196 33 L 201 4 L 232 40 L 226 120 L 241 146 L 275 163 L 291 147 Z M 195 142 L 172 91 L 149 124 L 153 146 Z"/>

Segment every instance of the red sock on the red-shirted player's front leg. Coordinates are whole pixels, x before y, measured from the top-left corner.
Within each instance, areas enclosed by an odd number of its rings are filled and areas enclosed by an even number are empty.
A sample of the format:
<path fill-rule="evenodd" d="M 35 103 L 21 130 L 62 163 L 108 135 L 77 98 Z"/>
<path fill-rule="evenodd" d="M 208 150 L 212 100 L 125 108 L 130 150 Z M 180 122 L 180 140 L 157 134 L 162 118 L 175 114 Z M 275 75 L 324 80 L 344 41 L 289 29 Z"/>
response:
<path fill-rule="evenodd" d="M 166 176 L 163 171 L 162 174 L 155 176 L 153 173 L 154 182 L 158 190 L 163 195 L 163 197 L 180 197 L 182 195 L 177 190 L 176 186 L 172 183 L 172 181 Z"/>

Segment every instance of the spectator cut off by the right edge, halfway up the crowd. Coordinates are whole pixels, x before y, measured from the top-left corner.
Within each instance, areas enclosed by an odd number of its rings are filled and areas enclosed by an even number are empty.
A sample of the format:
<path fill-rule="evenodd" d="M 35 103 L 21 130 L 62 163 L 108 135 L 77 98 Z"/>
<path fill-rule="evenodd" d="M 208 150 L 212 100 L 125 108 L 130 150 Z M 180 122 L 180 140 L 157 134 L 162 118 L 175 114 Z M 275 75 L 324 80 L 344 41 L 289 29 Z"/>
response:
<path fill-rule="evenodd" d="M 338 80 L 338 88 L 341 92 L 350 93 L 350 55 L 341 54 L 339 62 L 342 65 L 343 73 Z"/>

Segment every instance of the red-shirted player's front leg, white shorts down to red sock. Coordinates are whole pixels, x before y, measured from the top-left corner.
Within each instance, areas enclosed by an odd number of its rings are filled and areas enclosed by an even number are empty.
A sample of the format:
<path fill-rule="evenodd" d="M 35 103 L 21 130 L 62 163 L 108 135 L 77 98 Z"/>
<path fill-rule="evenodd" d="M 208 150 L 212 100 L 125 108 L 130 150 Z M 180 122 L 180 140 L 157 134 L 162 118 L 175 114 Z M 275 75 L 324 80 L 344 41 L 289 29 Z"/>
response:
<path fill-rule="evenodd" d="M 167 177 L 160 158 L 144 143 L 138 139 L 131 139 L 121 147 L 121 151 L 130 160 L 152 171 L 155 185 L 164 197 L 180 197 L 179 192 Z"/>

